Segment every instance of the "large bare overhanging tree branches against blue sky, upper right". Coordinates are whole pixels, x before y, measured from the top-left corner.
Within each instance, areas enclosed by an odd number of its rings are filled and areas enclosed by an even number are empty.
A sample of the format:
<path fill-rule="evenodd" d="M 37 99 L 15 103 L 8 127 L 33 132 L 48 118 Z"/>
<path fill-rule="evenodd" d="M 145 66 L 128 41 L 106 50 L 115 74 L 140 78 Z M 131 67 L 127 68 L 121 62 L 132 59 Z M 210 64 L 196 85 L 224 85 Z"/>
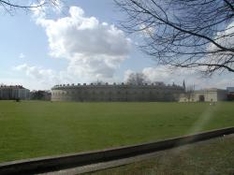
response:
<path fill-rule="evenodd" d="M 234 72 L 234 0 L 115 0 L 159 64 Z"/>

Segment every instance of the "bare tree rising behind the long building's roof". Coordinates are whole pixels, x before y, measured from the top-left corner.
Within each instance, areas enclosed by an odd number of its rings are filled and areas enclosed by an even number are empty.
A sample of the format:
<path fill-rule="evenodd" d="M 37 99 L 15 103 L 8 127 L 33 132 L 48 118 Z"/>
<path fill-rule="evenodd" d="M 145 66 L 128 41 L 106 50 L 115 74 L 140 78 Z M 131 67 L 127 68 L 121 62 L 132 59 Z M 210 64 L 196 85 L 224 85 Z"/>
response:
<path fill-rule="evenodd" d="M 147 83 L 147 77 L 143 73 L 131 73 L 126 83 L 131 85 L 143 85 Z"/>

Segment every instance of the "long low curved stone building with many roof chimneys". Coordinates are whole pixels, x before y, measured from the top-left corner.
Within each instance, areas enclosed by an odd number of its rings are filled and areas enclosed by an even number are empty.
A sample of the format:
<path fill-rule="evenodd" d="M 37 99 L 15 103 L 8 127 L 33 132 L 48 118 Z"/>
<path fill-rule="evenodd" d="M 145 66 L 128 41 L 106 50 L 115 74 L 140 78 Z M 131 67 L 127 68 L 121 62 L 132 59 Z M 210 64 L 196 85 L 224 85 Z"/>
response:
<path fill-rule="evenodd" d="M 56 85 L 52 101 L 178 101 L 184 87 L 164 84 L 77 84 Z"/>

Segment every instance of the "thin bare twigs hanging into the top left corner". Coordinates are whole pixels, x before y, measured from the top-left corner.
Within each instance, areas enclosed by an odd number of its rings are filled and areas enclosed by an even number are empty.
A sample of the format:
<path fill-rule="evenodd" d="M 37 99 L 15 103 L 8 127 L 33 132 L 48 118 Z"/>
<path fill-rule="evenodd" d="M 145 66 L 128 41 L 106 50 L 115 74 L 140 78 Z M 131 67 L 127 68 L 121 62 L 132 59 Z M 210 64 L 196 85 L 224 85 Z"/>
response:
<path fill-rule="evenodd" d="M 31 0 L 31 1 L 16 1 L 16 0 L 0 0 L 0 6 L 10 14 L 17 9 L 30 10 L 40 8 L 45 5 L 57 5 L 58 0 Z"/>

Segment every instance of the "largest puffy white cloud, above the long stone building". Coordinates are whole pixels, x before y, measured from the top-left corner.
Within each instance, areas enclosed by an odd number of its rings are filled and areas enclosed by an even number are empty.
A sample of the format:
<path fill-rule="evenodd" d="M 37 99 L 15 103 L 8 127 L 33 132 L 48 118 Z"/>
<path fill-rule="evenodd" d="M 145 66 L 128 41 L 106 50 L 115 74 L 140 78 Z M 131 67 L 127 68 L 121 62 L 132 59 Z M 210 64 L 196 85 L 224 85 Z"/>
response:
<path fill-rule="evenodd" d="M 67 73 L 77 81 L 108 80 L 127 58 L 131 41 L 114 25 L 86 17 L 79 7 L 70 7 L 69 16 L 47 19 L 36 11 L 36 22 L 48 37 L 50 55 L 69 62 Z"/>

